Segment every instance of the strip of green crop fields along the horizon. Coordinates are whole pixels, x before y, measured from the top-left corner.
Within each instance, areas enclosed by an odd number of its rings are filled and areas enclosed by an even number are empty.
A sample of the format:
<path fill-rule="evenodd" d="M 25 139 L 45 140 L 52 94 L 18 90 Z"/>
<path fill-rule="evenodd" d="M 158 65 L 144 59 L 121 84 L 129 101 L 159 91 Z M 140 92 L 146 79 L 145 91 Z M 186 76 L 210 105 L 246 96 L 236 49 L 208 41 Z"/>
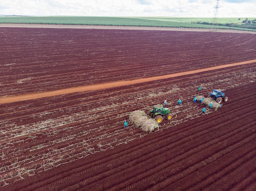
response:
<path fill-rule="evenodd" d="M 107 26 L 154 26 L 211 29 L 211 25 L 195 22 L 211 22 L 211 18 L 174 18 L 174 17 L 85 17 L 85 16 L 0 16 L 0 23 L 15 24 L 67 24 L 67 25 L 107 25 Z M 241 23 L 243 18 L 218 18 L 220 23 Z M 218 29 L 248 30 L 227 26 Z M 249 30 L 256 31 L 256 30 Z"/>

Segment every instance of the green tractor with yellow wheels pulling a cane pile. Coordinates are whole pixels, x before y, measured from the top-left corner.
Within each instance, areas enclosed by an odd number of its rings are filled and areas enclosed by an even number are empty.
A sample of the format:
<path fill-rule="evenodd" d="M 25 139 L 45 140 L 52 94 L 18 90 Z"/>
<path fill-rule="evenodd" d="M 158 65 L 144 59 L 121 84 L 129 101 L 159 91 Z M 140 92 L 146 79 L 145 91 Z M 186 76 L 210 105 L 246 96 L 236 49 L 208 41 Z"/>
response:
<path fill-rule="evenodd" d="M 172 119 L 171 111 L 168 108 L 164 108 L 163 105 L 154 105 L 152 110 L 148 110 L 147 115 L 155 118 L 157 123 L 161 123 L 164 118 L 168 121 Z"/>

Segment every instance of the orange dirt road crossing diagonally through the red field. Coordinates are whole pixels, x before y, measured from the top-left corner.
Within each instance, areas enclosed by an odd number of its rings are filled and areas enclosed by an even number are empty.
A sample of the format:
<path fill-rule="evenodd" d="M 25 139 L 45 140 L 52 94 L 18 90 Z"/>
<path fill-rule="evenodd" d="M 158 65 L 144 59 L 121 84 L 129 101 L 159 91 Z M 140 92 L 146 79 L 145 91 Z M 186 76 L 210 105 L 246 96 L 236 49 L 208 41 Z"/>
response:
<path fill-rule="evenodd" d="M 231 64 L 224 64 L 224 65 L 220 65 L 220 66 L 202 68 L 202 69 L 197 69 L 197 70 L 190 70 L 190 71 L 186 71 L 186 72 L 179 72 L 179 73 L 174 73 L 174 74 L 169 74 L 169 75 L 162 75 L 162 76 L 157 76 L 157 77 L 148 77 L 148 78 L 134 79 L 134 80 L 129 80 L 129 81 L 116 81 L 116 82 L 111 82 L 111 83 L 99 83 L 99 84 L 93 84 L 93 85 L 88 85 L 88 86 L 79 86 L 79 87 L 75 87 L 75 88 L 54 90 L 54 91 L 49 91 L 49 92 L 31 93 L 31 94 L 24 94 L 24 95 L 19 95 L 19 96 L 12 96 L 12 97 L 2 97 L 2 98 L 0 98 L 0 104 L 1 103 L 2 104 L 3 103 L 13 103 L 13 102 L 18 102 L 18 101 L 23 101 L 23 100 L 39 99 L 39 98 L 43 98 L 43 97 L 51 97 L 51 96 L 57 96 L 57 95 L 63 95 L 63 94 L 70 94 L 70 93 L 74 93 L 74 92 L 85 92 L 85 91 L 90 91 L 90 90 L 103 90 L 103 89 L 107 89 L 107 88 L 126 86 L 126 85 L 135 84 L 135 83 L 143 83 L 143 82 L 147 82 L 147 81 L 155 81 L 155 80 L 159 80 L 159 79 L 166 79 L 166 78 L 178 77 L 178 76 L 182 76 L 182 75 L 195 74 L 195 73 L 199 73 L 199 72 L 227 68 L 227 67 L 231 67 L 231 66 L 251 64 L 254 62 L 256 62 L 256 59 L 249 60 L 249 61 L 243 61 L 243 62 L 237 62 L 237 63 L 231 63 Z"/>

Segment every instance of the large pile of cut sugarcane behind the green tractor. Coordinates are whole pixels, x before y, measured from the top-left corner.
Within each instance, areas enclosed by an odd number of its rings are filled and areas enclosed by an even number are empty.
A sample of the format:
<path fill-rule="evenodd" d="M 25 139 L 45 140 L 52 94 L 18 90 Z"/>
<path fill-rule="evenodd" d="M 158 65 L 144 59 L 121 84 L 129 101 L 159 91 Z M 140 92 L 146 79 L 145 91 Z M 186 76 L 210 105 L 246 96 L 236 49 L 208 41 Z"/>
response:
<path fill-rule="evenodd" d="M 144 132 L 152 132 L 156 128 L 159 128 L 159 124 L 155 119 L 150 118 L 144 111 L 136 110 L 130 112 L 129 122 L 134 125 L 134 127 L 141 129 Z"/>

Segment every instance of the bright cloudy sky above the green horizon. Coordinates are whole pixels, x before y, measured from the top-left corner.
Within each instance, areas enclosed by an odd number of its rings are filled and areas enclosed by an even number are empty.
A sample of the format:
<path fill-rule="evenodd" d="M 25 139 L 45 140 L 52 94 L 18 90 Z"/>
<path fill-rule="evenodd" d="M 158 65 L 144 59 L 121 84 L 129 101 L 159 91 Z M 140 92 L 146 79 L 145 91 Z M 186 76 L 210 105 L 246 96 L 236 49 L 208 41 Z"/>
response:
<path fill-rule="evenodd" d="M 256 0 L 0 0 L 0 15 L 256 18 Z"/>

